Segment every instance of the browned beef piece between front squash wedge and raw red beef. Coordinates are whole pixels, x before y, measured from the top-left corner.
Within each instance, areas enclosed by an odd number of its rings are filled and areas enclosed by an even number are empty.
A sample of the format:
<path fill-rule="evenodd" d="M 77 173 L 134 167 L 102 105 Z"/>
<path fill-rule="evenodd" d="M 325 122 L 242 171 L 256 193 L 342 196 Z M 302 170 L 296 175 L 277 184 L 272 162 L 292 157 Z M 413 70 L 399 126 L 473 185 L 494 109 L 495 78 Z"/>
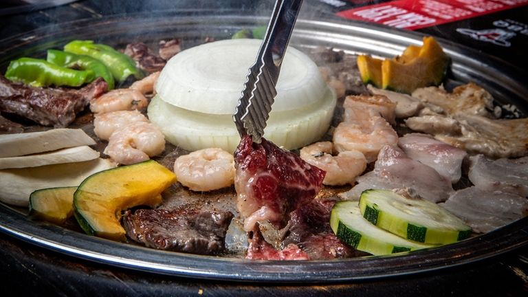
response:
<path fill-rule="evenodd" d="M 123 225 L 126 235 L 149 248 L 219 254 L 232 218 L 231 212 L 215 210 L 140 209 L 125 212 Z"/>

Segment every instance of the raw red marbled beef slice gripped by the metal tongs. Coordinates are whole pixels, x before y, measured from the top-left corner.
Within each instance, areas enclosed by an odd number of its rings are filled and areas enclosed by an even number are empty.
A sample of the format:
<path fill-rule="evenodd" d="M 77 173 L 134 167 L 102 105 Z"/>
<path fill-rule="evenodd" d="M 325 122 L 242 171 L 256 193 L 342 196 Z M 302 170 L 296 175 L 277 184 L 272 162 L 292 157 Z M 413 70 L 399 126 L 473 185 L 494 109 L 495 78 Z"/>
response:
<path fill-rule="evenodd" d="M 248 135 L 236 148 L 234 162 L 236 206 L 246 231 L 265 220 L 283 228 L 289 212 L 314 199 L 325 177 L 325 171 L 294 153 L 265 139 L 255 144 Z"/>

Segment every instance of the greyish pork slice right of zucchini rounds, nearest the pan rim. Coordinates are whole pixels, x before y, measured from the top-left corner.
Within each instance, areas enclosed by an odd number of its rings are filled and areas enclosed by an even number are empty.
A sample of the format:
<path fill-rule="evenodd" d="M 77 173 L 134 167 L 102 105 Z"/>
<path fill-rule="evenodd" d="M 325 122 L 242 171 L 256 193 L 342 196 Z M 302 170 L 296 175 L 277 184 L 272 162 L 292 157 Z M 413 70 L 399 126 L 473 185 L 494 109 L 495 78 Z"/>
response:
<path fill-rule="evenodd" d="M 481 233 L 507 225 L 528 214 L 528 200 L 525 197 L 476 187 L 458 190 L 440 205 L 465 221 L 474 232 Z"/>

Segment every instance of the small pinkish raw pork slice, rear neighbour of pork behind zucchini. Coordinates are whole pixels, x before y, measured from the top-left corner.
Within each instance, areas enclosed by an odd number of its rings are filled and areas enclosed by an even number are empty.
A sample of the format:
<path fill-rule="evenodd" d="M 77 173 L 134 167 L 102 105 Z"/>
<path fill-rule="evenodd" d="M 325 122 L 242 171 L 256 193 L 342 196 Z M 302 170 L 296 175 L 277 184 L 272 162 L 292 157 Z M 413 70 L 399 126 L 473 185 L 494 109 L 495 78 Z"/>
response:
<path fill-rule="evenodd" d="M 408 157 L 434 168 L 453 184 L 459 181 L 462 175 L 462 161 L 467 155 L 464 150 L 420 133 L 400 137 L 398 146 Z"/>

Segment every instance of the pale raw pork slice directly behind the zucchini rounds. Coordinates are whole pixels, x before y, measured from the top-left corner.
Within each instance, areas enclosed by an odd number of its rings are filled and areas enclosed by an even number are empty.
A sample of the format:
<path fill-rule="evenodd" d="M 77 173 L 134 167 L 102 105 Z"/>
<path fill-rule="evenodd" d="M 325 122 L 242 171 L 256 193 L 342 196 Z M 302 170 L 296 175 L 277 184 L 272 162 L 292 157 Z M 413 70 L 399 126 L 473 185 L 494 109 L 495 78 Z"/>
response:
<path fill-rule="evenodd" d="M 433 168 L 411 159 L 395 146 L 384 146 L 377 156 L 374 170 L 358 177 L 357 181 L 356 186 L 340 194 L 340 197 L 360 199 L 361 192 L 371 188 L 412 188 L 423 199 L 438 203 L 448 199 L 453 191 L 449 179 Z"/>

